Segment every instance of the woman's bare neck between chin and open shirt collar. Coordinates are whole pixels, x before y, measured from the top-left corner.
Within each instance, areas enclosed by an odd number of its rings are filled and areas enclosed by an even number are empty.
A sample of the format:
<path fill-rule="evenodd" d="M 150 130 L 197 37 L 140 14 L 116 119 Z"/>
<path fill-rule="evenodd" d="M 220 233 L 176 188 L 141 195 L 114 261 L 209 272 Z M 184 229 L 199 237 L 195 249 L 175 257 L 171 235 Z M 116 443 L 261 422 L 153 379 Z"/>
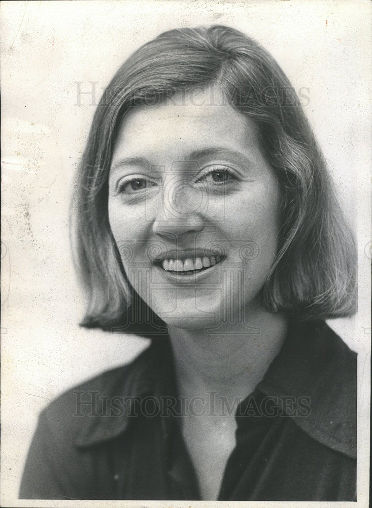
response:
<path fill-rule="evenodd" d="M 259 308 L 249 326 L 229 323 L 218 333 L 168 327 L 179 394 L 203 397 L 209 391 L 236 400 L 254 390 L 278 354 L 287 332 L 284 316 Z"/>

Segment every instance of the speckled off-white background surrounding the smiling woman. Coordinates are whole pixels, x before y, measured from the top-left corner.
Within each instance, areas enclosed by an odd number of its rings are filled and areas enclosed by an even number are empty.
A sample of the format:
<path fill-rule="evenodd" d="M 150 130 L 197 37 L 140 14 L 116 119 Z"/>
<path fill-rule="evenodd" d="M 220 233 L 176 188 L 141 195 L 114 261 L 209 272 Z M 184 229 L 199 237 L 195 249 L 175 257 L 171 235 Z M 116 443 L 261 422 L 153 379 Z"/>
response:
<path fill-rule="evenodd" d="M 358 317 L 331 325 L 358 351 L 360 378 L 368 383 L 368 3 L 2 2 L 0 15 L 1 504 L 27 505 L 16 497 L 29 440 L 45 404 L 80 380 L 127 362 L 147 344 L 137 337 L 78 327 L 83 302 L 72 267 L 68 214 L 94 112 L 92 96 L 81 96 L 82 105 L 77 105 L 76 82 L 82 82 L 82 91 L 96 82 L 98 102 L 122 61 L 164 30 L 215 23 L 238 28 L 274 55 L 296 90 L 309 89 L 304 109 L 359 245 Z M 363 426 L 368 386 L 359 388 Z M 363 429 L 358 430 L 359 450 L 368 449 Z M 367 486 L 361 472 L 365 460 L 358 470 L 360 503 Z"/>

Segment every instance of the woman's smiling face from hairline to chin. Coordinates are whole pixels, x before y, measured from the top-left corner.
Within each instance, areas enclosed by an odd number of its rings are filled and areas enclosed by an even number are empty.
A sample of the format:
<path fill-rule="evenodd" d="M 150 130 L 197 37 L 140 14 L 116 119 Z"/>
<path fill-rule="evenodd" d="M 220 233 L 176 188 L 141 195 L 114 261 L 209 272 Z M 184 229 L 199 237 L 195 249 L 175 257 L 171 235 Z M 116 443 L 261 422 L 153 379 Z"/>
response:
<path fill-rule="evenodd" d="M 110 226 L 132 287 L 168 325 L 244 329 L 275 258 L 279 201 L 254 123 L 218 89 L 125 116 Z"/>

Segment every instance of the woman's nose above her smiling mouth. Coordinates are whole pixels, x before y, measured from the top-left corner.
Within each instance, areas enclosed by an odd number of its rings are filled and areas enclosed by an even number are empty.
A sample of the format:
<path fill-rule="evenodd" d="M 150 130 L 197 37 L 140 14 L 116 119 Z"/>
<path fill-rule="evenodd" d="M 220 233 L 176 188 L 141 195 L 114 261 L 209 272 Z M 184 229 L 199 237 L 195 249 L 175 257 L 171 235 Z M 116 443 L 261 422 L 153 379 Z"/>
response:
<path fill-rule="evenodd" d="M 189 180 L 170 179 L 164 182 L 156 210 L 153 232 L 172 238 L 197 233 L 205 224 L 206 195 Z"/>

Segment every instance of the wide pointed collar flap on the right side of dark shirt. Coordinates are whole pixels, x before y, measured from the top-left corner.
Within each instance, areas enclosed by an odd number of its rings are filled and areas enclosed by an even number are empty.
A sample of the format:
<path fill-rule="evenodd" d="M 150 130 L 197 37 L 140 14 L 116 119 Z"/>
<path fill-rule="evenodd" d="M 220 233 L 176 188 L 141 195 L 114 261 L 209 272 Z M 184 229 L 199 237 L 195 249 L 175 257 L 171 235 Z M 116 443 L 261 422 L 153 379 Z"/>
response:
<path fill-rule="evenodd" d="M 293 324 L 259 388 L 306 398 L 293 420 L 334 451 L 356 457 L 357 354 L 326 323 Z"/>

